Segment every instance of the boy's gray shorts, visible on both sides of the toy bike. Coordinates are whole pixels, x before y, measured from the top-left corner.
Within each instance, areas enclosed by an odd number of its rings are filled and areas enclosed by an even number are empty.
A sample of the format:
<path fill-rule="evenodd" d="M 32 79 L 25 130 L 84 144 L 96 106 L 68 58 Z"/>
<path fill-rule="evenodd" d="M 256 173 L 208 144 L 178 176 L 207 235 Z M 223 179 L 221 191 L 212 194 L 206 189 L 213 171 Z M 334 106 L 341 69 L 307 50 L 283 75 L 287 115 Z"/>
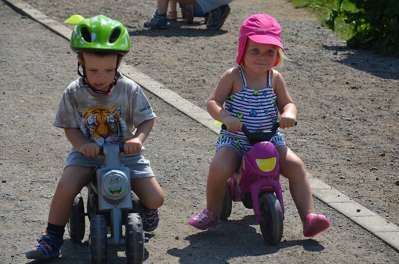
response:
<path fill-rule="evenodd" d="M 130 169 L 130 178 L 148 178 L 154 177 L 154 172 L 150 167 L 150 161 L 145 159 L 143 154 L 137 153 L 133 155 L 120 154 L 119 160 L 121 164 Z M 66 157 L 64 168 L 71 165 L 79 165 L 84 167 L 100 168 L 104 165 L 104 158 L 85 157 L 76 148 L 72 148 Z"/>

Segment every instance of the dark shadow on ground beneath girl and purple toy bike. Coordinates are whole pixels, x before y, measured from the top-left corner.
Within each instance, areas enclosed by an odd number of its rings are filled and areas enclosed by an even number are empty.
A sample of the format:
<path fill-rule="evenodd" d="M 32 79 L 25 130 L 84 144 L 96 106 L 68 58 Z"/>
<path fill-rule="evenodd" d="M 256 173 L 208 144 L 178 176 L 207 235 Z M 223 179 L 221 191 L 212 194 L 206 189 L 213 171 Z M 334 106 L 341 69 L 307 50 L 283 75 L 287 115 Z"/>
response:
<path fill-rule="evenodd" d="M 168 254 L 180 258 L 180 263 L 191 264 L 196 260 L 201 260 L 201 263 L 226 263 L 238 257 L 267 256 L 277 253 L 280 249 L 295 246 L 302 246 L 308 252 L 324 250 L 324 247 L 313 239 L 284 240 L 277 245 L 268 245 L 251 225 L 257 225 L 254 216 L 221 221 L 217 228 L 186 237 L 185 240 L 190 241 L 189 246 L 184 249 L 170 249 Z"/>

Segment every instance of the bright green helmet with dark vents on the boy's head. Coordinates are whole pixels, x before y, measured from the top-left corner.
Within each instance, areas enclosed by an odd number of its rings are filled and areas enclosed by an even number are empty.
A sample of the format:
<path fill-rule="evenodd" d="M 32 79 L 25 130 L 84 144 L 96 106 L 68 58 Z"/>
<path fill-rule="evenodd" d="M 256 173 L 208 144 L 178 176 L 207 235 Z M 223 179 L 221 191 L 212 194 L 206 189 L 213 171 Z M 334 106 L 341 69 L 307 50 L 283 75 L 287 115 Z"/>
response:
<path fill-rule="evenodd" d="M 102 14 L 80 20 L 72 31 L 73 51 L 107 52 L 125 55 L 130 50 L 128 30 L 117 20 Z"/>

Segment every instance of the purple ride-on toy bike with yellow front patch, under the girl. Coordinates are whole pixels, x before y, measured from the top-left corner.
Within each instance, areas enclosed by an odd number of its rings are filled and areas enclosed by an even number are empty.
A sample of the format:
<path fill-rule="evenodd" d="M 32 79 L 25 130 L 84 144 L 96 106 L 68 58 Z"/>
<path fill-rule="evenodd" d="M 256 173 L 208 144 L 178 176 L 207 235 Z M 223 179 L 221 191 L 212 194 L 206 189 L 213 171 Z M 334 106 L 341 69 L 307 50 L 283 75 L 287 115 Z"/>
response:
<path fill-rule="evenodd" d="M 296 123 L 295 123 L 296 125 Z M 266 243 L 277 244 L 283 236 L 284 203 L 280 184 L 279 156 L 268 140 L 279 127 L 276 122 L 269 132 L 241 131 L 248 137 L 252 148 L 244 154 L 239 169 L 227 180 L 222 203 L 221 219 L 231 214 L 232 201 L 242 202 L 253 209 Z M 222 125 L 222 129 L 226 129 Z"/>

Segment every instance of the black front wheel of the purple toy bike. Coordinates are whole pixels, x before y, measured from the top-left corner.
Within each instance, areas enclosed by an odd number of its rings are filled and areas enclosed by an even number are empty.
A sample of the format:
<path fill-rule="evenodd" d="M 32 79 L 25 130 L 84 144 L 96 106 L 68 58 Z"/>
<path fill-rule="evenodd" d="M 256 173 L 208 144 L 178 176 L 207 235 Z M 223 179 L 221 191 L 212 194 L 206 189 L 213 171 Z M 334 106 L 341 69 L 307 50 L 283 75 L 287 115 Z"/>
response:
<path fill-rule="evenodd" d="M 265 193 L 259 197 L 260 210 L 263 214 L 263 223 L 260 231 L 267 244 L 277 244 L 283 236 L 283 213 L 280 202 L 272 193 Z"/>

